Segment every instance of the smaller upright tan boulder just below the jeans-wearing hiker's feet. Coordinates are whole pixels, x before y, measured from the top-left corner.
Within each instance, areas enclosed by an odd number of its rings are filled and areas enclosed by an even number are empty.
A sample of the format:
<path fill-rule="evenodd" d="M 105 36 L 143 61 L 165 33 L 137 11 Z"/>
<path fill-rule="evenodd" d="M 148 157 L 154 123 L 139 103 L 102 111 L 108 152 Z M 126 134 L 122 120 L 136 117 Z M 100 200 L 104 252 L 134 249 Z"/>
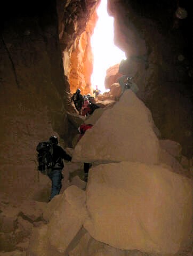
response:
<path fill-rule="evenodd" d="M 55 209 L 49 218 L 47 236 L 50 244 L 58 252 L 65 252 L 79 229 L 81 229 L 85 218 L 85 192 L 76 186 L 68 187 L 65 193 L 58 198 Z"/>

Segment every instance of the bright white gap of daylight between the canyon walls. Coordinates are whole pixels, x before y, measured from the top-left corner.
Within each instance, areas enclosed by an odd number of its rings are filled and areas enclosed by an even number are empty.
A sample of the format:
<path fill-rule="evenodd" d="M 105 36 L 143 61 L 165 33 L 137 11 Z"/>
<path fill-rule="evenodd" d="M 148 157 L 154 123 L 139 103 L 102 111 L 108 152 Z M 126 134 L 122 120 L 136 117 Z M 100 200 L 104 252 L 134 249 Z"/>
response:
<path fill-rule="evenodd" d="M 98 89 L 103 93 L 107 91 L 104 87 L 106 70 L 126 57 L 114 44 L 114 18 L 107 13 L 107 0 L 101 0 L 97 14 L 99 19 L 91 37 L 94 59 L 91 84 L 94 89 L 98 85 Z"/>

